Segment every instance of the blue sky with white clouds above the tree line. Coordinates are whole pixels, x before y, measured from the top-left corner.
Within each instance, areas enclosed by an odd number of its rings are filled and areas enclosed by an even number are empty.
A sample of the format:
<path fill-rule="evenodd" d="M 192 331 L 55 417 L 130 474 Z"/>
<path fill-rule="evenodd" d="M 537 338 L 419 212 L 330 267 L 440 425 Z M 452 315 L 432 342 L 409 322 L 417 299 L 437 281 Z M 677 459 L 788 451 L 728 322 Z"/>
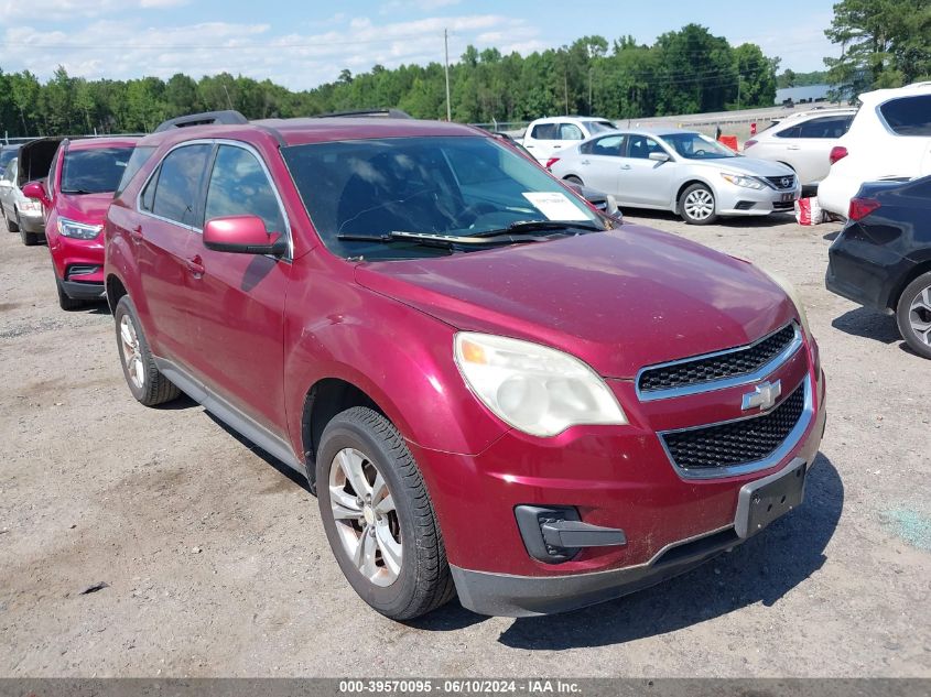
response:
<path fill-rule="evenodd" d="M 652 43 L 689 22 L 732 44 L 750 41 L 782 68 L 823 67 L 838 48 L 824 39 L 833 0 L 553 2 L 550 0 L 0 0 L 0 67 L 47 78 L 194 77 L 227 70 L 291 89 L 364 73 L 443 59 L 443 30 L 455 59 L 469 43 L 505 53 L 560 46 L 586 34 L 632 34 Z"/>

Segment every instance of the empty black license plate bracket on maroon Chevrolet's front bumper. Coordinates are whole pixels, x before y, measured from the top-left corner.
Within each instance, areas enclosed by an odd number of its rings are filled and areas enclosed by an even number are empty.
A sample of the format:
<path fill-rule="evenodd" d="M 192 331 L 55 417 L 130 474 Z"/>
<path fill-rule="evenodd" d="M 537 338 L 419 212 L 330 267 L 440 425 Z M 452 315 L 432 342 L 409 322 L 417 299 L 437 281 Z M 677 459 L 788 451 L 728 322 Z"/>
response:
<path fill-rule="evenodd" d="M 750 537 L 781 515 L 801 505 L 805 495 L 808 464 L 798 458 L 781 471 L 740 488 L 734 531 Z"/>

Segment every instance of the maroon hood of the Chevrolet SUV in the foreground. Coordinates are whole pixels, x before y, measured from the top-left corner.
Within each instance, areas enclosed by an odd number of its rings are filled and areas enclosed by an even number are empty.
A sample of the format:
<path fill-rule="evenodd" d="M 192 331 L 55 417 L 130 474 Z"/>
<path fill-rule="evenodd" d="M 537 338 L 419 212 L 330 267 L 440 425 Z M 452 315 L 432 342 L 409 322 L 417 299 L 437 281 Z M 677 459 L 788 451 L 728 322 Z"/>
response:
<path fill-rule="evenodd" d="M 562 349 L 607 378 L 748 344 L 794 316 L 782 290 L 747 262 L 629 225 L 361 263 L 356 280 L 458 329 Z"/>

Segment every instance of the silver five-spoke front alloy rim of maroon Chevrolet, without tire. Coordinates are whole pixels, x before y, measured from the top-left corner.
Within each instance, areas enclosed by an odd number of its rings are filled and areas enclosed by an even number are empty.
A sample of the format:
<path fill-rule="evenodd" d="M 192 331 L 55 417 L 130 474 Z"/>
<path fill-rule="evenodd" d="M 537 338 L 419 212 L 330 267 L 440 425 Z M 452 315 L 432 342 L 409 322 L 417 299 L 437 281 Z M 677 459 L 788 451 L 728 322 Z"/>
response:
<path fill-rule="evenodd" d="M 343 549 L 376 586 L 401 573 L 403 545 L 394 500 L 378 468 L 364 453 L 343 448 L 329 467 L 329 502 Z"/>

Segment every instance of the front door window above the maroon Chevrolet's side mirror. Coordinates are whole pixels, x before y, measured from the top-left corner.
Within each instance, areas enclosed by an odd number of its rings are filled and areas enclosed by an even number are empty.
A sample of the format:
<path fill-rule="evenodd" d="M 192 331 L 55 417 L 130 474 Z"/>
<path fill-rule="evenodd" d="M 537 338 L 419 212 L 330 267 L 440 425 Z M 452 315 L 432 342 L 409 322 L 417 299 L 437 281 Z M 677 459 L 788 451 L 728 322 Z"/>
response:
<path fill-rule="evenodd" d="M 259 216 L 269 232 L 283 232 L 284 219 L 264 170 L 248 150 L 220 145 L 207 189 L 205 219 Z"/>

